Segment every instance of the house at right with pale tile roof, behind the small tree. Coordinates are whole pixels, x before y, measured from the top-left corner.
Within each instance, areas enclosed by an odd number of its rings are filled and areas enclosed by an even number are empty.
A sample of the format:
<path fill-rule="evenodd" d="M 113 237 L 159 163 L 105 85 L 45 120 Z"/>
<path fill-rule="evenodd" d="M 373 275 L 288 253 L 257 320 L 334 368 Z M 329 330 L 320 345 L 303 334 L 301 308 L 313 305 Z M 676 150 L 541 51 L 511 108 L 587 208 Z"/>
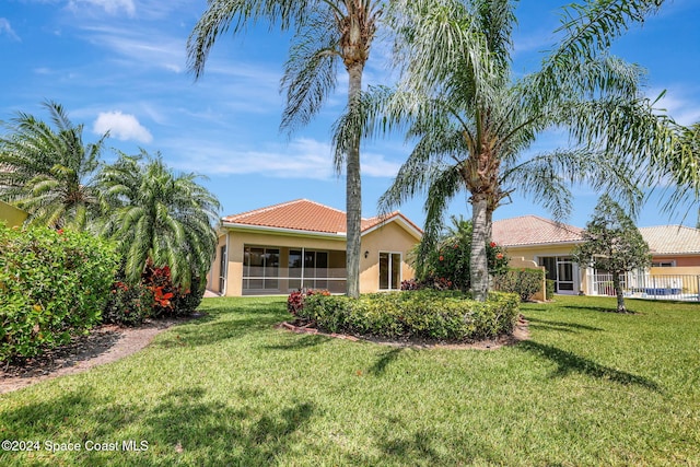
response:
<path fill-rule="evenodd" d="M 649 244 L 652 268 L 644 275 L 658 278 L 656 283 L 670 288 L 679 282 L 681 289 L 698 293 L 691 276 L 700 277 L 700 230 L 682 225 L 641 227 Z M 523 258 L 547 269 L 547 279 L 555 281 L 557 293 L 602 293 L 602 279 L 591 268 L 581 268 L 571 258 L 571 250 L 583 242 L 583 229 L 555 222 L 537 215 L 523 215 L 493 222 L 492 237 L 512 258 Z M 673 279 L 672 276 L 678 276 Z M 689 277 L 692 283 L 685 283 Z M 666 284 L 661 278 L 666 278 Z M 639 279 L 640 281 L 642 279 Z M 652 287 L 656 289 L 657 287 Z"/>

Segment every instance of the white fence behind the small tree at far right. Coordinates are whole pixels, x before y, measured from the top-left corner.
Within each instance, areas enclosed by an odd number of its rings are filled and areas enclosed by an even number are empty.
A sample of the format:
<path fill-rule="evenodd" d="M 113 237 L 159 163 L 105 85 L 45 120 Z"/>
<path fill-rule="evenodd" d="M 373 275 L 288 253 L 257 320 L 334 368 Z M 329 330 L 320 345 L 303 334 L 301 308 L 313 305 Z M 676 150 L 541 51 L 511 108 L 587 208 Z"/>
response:
<path fill-rule="evenodd" d="M 588 276 L 594 295 L 615 295 L 612 275 Z M 700 301 L 700 276 L 629 272 L 620 276 L 625 296 L 637 299 Z"/>

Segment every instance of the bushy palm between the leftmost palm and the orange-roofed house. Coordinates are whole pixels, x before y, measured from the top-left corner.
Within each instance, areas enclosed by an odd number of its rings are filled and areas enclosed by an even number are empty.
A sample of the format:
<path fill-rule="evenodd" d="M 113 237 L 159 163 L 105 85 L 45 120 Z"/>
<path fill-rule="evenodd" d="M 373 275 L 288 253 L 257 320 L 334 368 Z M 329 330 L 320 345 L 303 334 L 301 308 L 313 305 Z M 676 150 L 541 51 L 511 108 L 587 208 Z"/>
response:
<path fill-rule="evenodd" d="M 136 283 L 147 264 L 168 266 L 173 283 L 189 288 L 203 278 L 217 248 L 212 222 L 217 198 L 195 180 L 175 175 L 160 154 L 120 154 L 100 174 L 106 221 L 102 234 L 115 240 L 125 255 L 126 279 Z"/>

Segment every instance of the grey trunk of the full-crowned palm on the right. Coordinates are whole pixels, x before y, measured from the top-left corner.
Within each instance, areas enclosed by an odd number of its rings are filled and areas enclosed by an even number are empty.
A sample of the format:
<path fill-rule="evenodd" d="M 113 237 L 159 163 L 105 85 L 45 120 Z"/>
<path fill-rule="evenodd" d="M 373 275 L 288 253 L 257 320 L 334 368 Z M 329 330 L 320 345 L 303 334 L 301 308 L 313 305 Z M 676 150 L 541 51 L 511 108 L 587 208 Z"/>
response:
<path fill-rule="evenodd" d="M 489 293 L 489 265 L 486 255 L 487 200 L 483 195 L 471 197 L 471 258 L 469 278 L 474 300 L 486 302 Z"/>

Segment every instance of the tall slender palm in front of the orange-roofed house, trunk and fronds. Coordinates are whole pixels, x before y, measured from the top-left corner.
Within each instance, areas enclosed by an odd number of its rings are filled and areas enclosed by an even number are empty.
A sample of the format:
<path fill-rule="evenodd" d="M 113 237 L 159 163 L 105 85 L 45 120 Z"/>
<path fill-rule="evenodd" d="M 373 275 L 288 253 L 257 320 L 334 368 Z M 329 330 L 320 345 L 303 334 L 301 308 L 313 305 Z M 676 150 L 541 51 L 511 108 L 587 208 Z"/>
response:
<path fill-rule="evenodd" d="M 378 0 L 210 0 L 187 42 L 189 68 L 199 78 L 217 38 L 228 32 L 238 34 L 248 22 L 265 19 L 282 30 L 294 28 L 282 78 L 287 107 L 281 126 L 291 131 L 307 124 L 335 90 L 340 61 L 349 79 L 348 105 L 355 105 L 383 4 Z M 347 294 L 353 297 L 360 294 L 360 140 L 359 132 L 350 137 L 347 150 L 336 160 L 338 168 L 343 162 L 346 168 Z"/>

